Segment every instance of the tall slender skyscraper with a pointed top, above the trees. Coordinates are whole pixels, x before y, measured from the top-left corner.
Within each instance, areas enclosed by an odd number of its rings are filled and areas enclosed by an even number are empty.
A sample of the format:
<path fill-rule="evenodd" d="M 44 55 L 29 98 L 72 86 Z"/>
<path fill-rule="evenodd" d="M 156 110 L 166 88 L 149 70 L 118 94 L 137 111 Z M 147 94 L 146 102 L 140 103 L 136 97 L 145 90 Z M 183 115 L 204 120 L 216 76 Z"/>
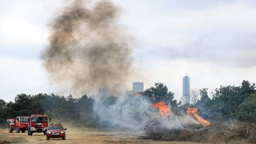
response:
<path fill-rule="evenodd" d="M 188 103 L 190 104 L 190 78 L 186 75 L 183 78 L 183 99 L 184 104 Z"/>

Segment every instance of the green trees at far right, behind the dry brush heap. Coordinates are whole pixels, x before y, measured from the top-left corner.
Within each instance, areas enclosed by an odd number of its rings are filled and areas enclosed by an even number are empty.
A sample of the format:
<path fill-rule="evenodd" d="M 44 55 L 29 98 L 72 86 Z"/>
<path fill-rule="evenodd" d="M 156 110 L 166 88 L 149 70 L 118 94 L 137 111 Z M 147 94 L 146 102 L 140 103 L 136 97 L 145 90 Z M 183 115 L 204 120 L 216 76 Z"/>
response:
<path fill-rule="evenodd" d="M 210 99 L 206 88 L 199 90 L 198 101 L 192 95 L 190 106 L 198 107 L 202 118 L 225 121 L 238 119 L 243 122 L 256 122 L 255 83 L 243 81 L 242 86 L 220 86 Z"/>

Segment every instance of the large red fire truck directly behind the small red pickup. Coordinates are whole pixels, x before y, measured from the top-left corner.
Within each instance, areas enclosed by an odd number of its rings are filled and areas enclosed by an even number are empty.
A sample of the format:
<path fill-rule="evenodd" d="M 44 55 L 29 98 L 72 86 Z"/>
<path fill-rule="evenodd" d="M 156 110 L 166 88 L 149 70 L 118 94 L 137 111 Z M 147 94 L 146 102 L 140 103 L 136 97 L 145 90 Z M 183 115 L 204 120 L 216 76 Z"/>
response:
<path fill-rule="evenodd" d="M 48 116 L 46 114 L 32 114 L 29 117 L 29 125 L 27 129 L 28 135 L 32 135 L 33 133 L 43 133 L 46 135 L 47 128 Z"/>

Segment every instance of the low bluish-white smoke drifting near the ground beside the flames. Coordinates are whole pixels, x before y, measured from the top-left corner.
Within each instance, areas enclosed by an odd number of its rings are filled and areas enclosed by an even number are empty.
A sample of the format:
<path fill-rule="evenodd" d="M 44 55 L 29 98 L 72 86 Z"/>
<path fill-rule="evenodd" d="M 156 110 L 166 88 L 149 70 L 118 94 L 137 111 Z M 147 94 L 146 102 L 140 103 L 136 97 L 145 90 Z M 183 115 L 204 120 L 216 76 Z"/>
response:
<path fill-rule="evenodd" d="M 109 127 L 118 126 L 123 130 L 144 130 L 158 122 L 159 128 L 184 128 L 188 123 L 198 123 L 187 116 L 176 116 L 170 111 L 169 118 L 161 118 L 158 109 L 143 96 L 123 96 L 118 98 L 113 105 L 104 101 L 94 103 L 94 112 L 102 124 Z"/>

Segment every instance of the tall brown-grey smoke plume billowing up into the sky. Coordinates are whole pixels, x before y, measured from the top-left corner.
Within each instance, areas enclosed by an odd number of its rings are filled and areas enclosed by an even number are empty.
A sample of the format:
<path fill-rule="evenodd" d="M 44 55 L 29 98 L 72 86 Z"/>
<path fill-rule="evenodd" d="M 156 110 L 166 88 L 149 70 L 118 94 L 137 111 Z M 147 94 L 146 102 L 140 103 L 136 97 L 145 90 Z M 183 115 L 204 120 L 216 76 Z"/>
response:
<path fill-rule="evenodd" d="M 50 83 L 78 96 L 104 88 L 124 90 L 132 38 L 118 26 L 121 9 L 109 1 L 72 1 L 50 20 L 42 66 Z"/>

